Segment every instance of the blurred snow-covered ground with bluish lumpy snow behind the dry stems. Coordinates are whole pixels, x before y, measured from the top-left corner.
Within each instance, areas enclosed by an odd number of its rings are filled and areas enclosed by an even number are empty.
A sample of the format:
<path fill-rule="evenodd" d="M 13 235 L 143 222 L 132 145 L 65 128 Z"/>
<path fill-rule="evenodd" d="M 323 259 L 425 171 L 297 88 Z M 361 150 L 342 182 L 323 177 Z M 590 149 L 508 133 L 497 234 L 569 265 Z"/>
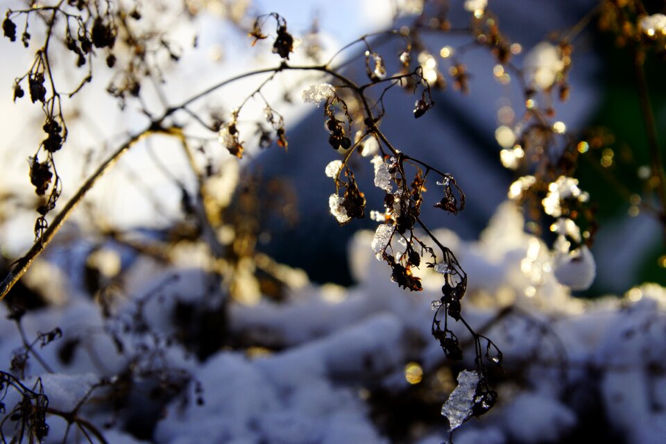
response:
<path fill-rule="evenodd" d="M 610 431 L 628 443 L 662 442 L 666 289 L 644 284 L 623 298 L 572 298 L 555 277 L 554 257 L 522 232 L 511 203 L 499 207 L 477 241 L 438 234 L 470 277 L 463 314 L 504 352 L 504 373 L 491 377 L 497 406 L 463 424 L 454 442 L 565 442 L 583 432 Z M 57 307 L 25 314 L 21 325 L 28 341 L 55 327 L 62 337 L 34 345 L 44 366 L 28 353 L 24 384 L 33 386 L 40 377 L 49 407 L 58 411 L 85 400 L 78 414 L 112 443 L 142 442 L 128 433 L 137 418 L 150 432 L 144 438 L 157 443 L 388 443 L 376 393 L 400 397 L 422 387 L 435 395 L 436 404 L 424 403 L 438 413 L 454 375 L 472 368 L 472 350 L 466 348 L 463 366 L 452 365 L 430 336 L 430 301 L 440 297 L 442 276 L 422 271 L 424 291 L 401 291 L 375 259 L 371 236 L 359 232 L 350 245 L 354 287 L 301 279 L 283 302 L 232 303 L 230 332 L 258 345 L 219 350 L 203 361 L 169 339 L 177 337 L 179 302 L 220 302 L 202 268 L 137 259 L 124 277 L 126 294 L 133 296 L 101 307 L 49 266 L 58 278 L 48 290 L 64 296 Z M 22 351 L 22 340 L 14 322 L 2 318 L 0 361 L 9 363 Z M 465 343 L 463 330 L 456 333 Z M 422 373 L 416 379 L 410 376 L 415 368 Z M 11 411 L 21 398 L 8 386 L 3 390 L 4 408 Z M 114 393 L 124 398 L 114 403 Z M 402 440 L 445 441 L 447 420 L 439 418 L 408 424 Z M 48 413 L 46 422 L 45 442 L 61 442 L 67 422 Z M 2 427 L 11 436 L 15 422 Z M 67 442 L 77 437 L 83 440 L 70 430 Z"/>

